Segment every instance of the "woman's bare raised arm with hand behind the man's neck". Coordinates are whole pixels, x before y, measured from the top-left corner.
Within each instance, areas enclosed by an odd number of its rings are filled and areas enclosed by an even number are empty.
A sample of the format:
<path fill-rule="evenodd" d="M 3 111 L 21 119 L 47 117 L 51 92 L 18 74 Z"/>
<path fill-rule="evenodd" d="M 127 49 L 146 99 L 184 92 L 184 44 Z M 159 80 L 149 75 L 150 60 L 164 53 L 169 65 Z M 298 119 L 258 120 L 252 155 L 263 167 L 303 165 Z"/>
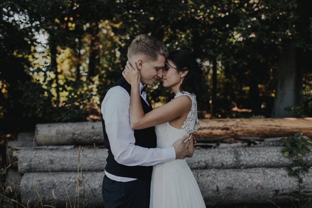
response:
<path fill-rule="evenodd" d="M 188 96 L 180 96 L 167 104 L 144 114 L 140 101 L 139 70 L 136 68 L 136 64 L 134 64 L 134 70 L 132 67 L 129 67 L 126 67 L 123 76 L 131 85 L 129 109 L 131 128 L 143 129 L 156 126 L 161 123 L 172 121 L 173 119 L 181 117 L 183 114 L 189 112 L 192 106 L 191 99 Z"/>

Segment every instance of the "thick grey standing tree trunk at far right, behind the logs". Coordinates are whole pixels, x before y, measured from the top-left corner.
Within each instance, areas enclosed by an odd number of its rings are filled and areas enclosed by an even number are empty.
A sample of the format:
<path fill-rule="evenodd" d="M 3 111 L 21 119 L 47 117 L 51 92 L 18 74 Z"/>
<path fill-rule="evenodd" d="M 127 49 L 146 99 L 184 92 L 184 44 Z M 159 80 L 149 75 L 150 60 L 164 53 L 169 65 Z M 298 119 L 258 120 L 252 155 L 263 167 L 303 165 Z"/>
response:
<path fill-rule="evenodd" d="M 308 40 L 311 34 L 306 29 L 312 17 L 312 2 L 310 0 L 296 1 L 298 16 L 295 26 L 302 40 Z M 285 107 L 302 103 L 302 78 L 307 60 L 302 58 L 303 49 L 294 46 L 291 42 L 284 44 L 278 60 L 279 72 L 277 75 L 277 89 L 271 117 L 294 117 L 293 113 L 285 111 Z M 310 57 L 306 57 L 307 59 Z"/>

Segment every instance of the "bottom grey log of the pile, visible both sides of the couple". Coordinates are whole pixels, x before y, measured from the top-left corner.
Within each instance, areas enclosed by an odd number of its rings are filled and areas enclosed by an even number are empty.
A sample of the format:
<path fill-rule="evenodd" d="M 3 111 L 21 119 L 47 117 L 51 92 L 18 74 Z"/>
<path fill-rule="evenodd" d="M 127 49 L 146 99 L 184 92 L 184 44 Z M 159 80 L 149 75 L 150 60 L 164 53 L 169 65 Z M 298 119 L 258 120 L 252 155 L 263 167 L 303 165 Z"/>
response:
<path fill-rule="evenodd" d="M 79 194 L 76 191 L 78 172 L 34 172 L 25 173 L 20 185 L 22 202 L 29 199 L 37 202 L 39 197 L 33 186 L 38 190 L 43 205 L 65 207 L 66 199 L 74 204 L 88 207 L 103 207 L 102 180 L 104 172 L 85 172 L 79 175 Z M 193 170 L 206 205 L 223 205 L 231 203 L 269 203 L 290 201 L 290 193 L 298 191 L 299 183 L 296 177 L 288 176 L 286 168 L 248 168 L 248 169 L 209 169 Z M 65 187 L 62 182 L 64 180 Z M 312 173 L 303 176 L 301 191 L 312 196 Z M 52 191 L 54 196 L 52 196 Z M 83 198 L 85 191 L 85 198 Z M 68 196 L 66 195 L 68 193 Z M 77 193 L 77 195 L 76 195 Z M 65 198 L 62 198 L 61 195 Z M 69 204 L 69 202 L 68 202 Z"/>

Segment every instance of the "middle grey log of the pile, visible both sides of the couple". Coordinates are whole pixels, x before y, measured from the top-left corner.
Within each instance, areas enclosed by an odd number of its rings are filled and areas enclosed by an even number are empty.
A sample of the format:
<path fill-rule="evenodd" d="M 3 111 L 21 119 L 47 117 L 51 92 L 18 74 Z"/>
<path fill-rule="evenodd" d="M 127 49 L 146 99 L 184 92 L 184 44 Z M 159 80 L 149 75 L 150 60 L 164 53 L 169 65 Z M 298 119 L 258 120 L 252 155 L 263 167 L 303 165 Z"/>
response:
<path fill-rule="evenodd" d="M 282 147 L 195 149 L 193 157 L 187 158 L 187 162 L 191 169 L 292 166 L 292 160 L 284 157 L 281 149 Z M 106 157 L 107 149 L 80 150 L 79 167 L 83 167 L 85 171 L 104 171 Z M 312 165 L 312 154 L 307 154 L 304 160 Z M 21 150 L 18 166 L 21 173 L 76 171 L 78 149 Z"/>

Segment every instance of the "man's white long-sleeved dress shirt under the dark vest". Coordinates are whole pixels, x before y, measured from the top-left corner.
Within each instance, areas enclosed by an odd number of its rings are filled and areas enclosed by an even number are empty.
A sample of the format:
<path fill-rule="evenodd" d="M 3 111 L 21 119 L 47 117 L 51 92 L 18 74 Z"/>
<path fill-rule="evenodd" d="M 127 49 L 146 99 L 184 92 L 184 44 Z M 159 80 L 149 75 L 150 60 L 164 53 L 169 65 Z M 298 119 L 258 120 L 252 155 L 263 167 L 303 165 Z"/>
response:
<path fill-rule="evenodd" d="M 140 91 L 143 85 L 140 83 Z M 146 93 L 141 97 L 146 100 Z M 127 166 L 152 166 L 174 160 L 175 150 L 169 148 L 143 148 L 134 145 L 134 130 L 131 129 L 129 117 L 130 96 L 121 86 L 110 88 L 101 104 L 101 113 L 105 121 L 105 129 L 110 141 L 110 149 L 116 162 Z M 146 139 L 149 139 L 146 135 Z M 114 181 L 133 181 L 136 178 L 119 177 L 105 171 L 105 175 Z"/>

